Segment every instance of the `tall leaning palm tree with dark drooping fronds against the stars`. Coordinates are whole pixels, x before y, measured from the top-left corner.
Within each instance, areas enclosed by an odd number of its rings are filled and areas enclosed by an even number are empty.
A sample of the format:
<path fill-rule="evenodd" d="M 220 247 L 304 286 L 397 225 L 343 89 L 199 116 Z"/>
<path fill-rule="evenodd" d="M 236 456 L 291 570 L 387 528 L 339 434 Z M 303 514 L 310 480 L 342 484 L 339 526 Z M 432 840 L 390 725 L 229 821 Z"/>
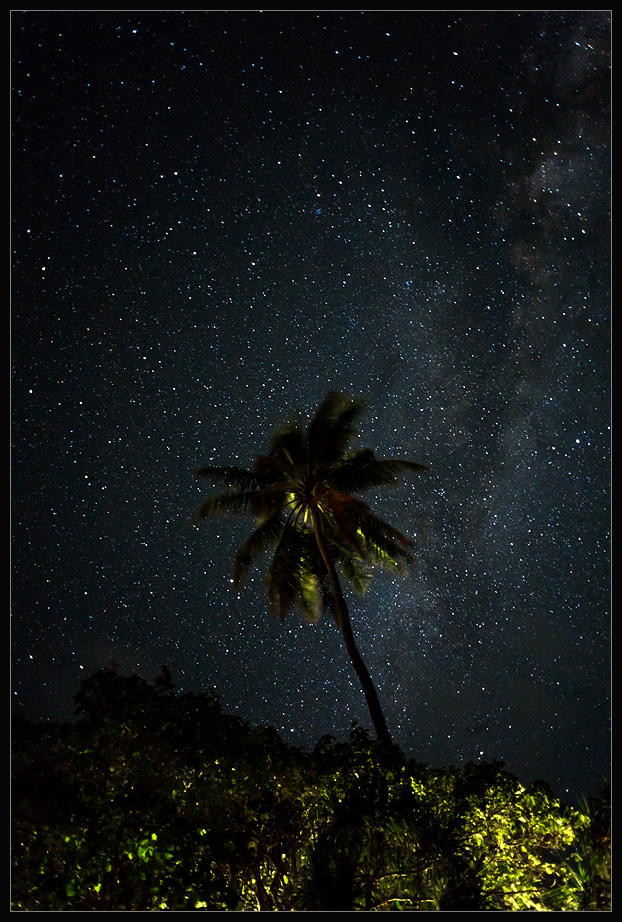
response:
<path fill-rule="evenodd" d="M 405 471 L 428 468 L 414 461 L 379 460 L 369 449 L 351 451 L 363 404 L 337 391 L 322 402 L 308 431 L 285 429 L 252 470 L 206 467 L 199 477 L 229 484 L 234 492 L 210 496 L 199 521 L 224 513 L 250 514 L 256 528 L 235 556 L 238 584 L 255 560 L 273 548 L 267 574 L 273 612 L 299 610 L 316 621 L 330 611 L 359 678 L 378 739 L 391 743 L 376 689 L 356 646 L 337 567 L 363 593 L 371 568 L 403 571 L 412 542 L 353 494 L 393 483 Z"/>

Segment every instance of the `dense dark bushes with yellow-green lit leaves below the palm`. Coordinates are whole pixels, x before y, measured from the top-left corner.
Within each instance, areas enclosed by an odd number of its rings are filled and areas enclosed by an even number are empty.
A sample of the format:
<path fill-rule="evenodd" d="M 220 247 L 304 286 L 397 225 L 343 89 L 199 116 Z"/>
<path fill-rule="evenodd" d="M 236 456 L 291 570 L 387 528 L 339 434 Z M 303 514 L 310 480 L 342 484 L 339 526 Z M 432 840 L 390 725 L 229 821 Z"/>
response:
<path fill-rule="evenodd" d="M 14 727 L 14 911 L 610 908 L 602 798 L 356 729 L 304 753 L 166 670 L 103 670 L 76 702 L 75 724 Z"/>

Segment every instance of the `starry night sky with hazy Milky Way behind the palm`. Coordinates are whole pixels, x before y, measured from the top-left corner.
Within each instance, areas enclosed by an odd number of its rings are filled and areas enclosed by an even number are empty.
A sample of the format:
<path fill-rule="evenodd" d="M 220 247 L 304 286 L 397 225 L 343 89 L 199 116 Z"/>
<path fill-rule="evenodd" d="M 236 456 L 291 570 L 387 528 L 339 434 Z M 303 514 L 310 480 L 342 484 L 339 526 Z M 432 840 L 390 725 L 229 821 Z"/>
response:
<path fill-rule="evenodd" d="M 118 664 L 313 747 L 370 727 L 330 617 L 197 527 L 339 388 L 431 465 L 348 592 L 395 741 L 556 793 L 609 773 L 609 12 L 17 11 L 12 699 Z"/>

